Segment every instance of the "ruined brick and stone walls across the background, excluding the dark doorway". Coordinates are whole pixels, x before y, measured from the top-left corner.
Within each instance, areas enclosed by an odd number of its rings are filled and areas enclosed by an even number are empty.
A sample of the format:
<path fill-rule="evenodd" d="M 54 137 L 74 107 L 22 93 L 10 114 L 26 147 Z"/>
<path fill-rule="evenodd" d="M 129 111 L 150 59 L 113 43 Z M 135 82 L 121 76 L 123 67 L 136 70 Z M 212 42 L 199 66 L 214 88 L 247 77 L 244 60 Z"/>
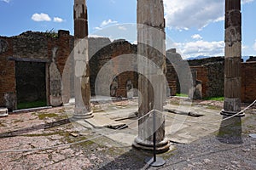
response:
<path fill-rule="evenodd" d="M 55 61 L 53 60 L 53 49 L 55 52 Z M 64 103 L 73 96 L 73 37 L 68 31 L 59 31 L 57 37 L 52 37 L 50 34 L 43 32 L 26 31 L 15 37 L 0 37 L 0 106 L 7 106 L 9 110 L 15 110 L 17 105 L 17 89 L 16 78 L 17 69 L 15 63 L 18 62 L 33 62 L 41 63 L 45 67 L 45 91 L 46 98 L 49 102 L 49 96 L 56 94 L 50 92 L 50 72 L 49 65 L 55 62 L 56 71 L 59 71 L 61 77 L 65 74 L 67 80 L 62 88 L 62 97 L 66 99 Z M 116 57 L 120 55 L 137 54 L 137 45 L 133 45 L 125 40 L 117 40 L 111 42 L 108 38 L 89 38 L 89 56 L 90 56 L 90 88 L 91 94 L 95 95 L 95 82 L 99 71 L 108 61 L 113 60 L 113 73 L 118 72 L 120 68 L 133 65 L 134 71 L 125 71 L 116 77 L 110 77 L 113 81 L 110 87 L 111 95 L 114 97 L 127 97 L 127 92 L 131 88 L 137 88 L 137 61 L 127 60 L 116 61 Z M 183 61 L 181 56 L 176 53 L 176 50 L 167 50 L 166 55 L 171 61 L 166 60 L 166 79 L 171 89 L 171 95 L 179 92 L 179 81 L 176 70 L 177 64 L 182 65 L 187 61 Z M 68 59 L 69 57 L 69 59 Z M 68 59 L 68 65 L 67 65 Z M 256 96 L 256 62 L 252 62 L 254 57 L 241 64 L 241 101 L 252 102 Z M 251 61 L 251 62 L 248 62 Z M 208 59 L 193 59 L 189 60 L 191 70 L 196 72 L 195 79 L 201 81 L 202 97 L 214 97 L 224 95 L 224 58 L 208 58 Z M 64 71 L 64 67 L 66 69 Z M 22 68 L 22 67 L 21 67 Z M 176 68 L 176 70 L 175 70 Z M 23 70 L 22 70 L 23 71 Z M 19 71 L 22 74 L 22 71 Z M 186 71 L 181 76 L 185 76 Z M 16 74 L 16 76 L 15 76 Z M 35 71 L 35 74 L 41 74 Z M 19 74 L 18 74 L 19 75 Z M 57 74 L 55 74 L 57 75 Z M 107 77 L 108 78 L 108 77 Z M 24 78 L 22 78 L 24 79 Z M 60 78 L 59 78 L 60 79 Z M 52 79 L 53 80 L 53 79 Z M 55 79 L 54 79 L 55 80 Z M 183 82 L 182 82 L 183 83 Z M 35 86 L 38 86 L 34 84 Z M 60 85 L 61 86 L 61 85 Z M 187 87 L 188 88 L 188 87 Z M 56 88 L 57 89 L 57 88 Z M 60 89 L 60 88 L 58 88 Z M 185 89 L 189 91 L 189 89 Z M 40 94 L 41 95 L 41 94 Z M 109 95 L 109 94 L 106 94 Z M 20 101 L 19 101 L 20 102 Z M 50 105 L 50 103 L 49 103 Z"/>

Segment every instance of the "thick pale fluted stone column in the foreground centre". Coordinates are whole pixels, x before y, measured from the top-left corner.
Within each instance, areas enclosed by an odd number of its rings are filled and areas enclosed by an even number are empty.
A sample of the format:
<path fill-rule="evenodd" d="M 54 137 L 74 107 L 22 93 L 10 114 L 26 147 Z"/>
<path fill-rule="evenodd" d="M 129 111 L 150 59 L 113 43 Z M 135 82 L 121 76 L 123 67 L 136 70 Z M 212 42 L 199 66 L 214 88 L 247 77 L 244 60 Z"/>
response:
<path fill-rule="evenodd" d="M 148 112 L 156 114 L 156 150 L 169 150 L 170 143 L 165 138 L 165 118 L 162 115 L 166 87 L 164 70 L 166 69 L 165 19 L 162 0 L 137 0 L 137 53 L 139 117 Z M 140 59 L 140 56 L 147 59 Z M 150 65 L 154 62 L 160 68 L 156 71 Z M 138 136 L 133 146 L 143 150 L 153 150 L 153 114 L 138 121 Z"/>

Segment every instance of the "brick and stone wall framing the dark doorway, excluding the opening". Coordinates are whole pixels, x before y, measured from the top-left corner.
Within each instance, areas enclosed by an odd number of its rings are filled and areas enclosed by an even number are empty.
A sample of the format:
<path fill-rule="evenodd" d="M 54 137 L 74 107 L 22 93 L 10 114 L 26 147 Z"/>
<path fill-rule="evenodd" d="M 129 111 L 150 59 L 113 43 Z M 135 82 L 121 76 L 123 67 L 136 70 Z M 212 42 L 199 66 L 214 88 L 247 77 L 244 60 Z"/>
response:
<path fill-rule="evenodd" d="M 25 62 L 27 64 L 33 62 L 42 63 L 44 65 L 46 77 L 45 96 L 49 102 L 49 65 L 52 61 L 52 49 L 55 47 L 58 48 L 56 65 L 62 75 L 67 57 L 71 52 L 69 40 L 69 31 L 58 31 L 57 37 L 55 37 L 54 34 L 33 31 L 26 31 L 15 37 L 0 37 L 0 106 L 7 106 L 9 110 L 15 110 L 17 108 L 18 89 L 16 88 L 15 77 L 15 63 L 17 62 Z M 23 67 L 18 68 L 21 69 Z M 22 71 L 24 70 L 22 69 Z M 38 75 L 39 77 L 41 73 L 34 70 L 32 74 Z M 19 77 L 19 74 L 17 75 Z M 22 79 L 24 79 L 24 77 Z M 38 85 L 35 83 L 32 86 Z M 26 99 L 24 99 L 24 101 L 25 100 Z"/>

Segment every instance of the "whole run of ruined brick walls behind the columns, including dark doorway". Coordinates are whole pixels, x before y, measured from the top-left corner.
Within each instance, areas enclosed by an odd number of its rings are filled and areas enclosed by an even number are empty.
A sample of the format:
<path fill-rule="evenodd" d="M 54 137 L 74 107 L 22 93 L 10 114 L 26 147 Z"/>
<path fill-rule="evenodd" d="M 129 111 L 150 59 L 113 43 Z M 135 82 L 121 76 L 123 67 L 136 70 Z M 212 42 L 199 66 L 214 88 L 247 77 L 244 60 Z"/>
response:
<path fill-rule="evenodd" d="M 68 31 L 57 34 L 26 31 L 15 37 L 0 37 L 0 107 L 16 110 L 17 104 L 44 100 L 45 105 L 62 105 L 74 96 L 73 93 L 73 36 Z M 111 42 L 105 37 L 89 38 L 90 91 L 96 93 L 96 77 L 103 65 L 125 54 L 137 54 L 137 45 L 123 39 Z M 166 80 L 168 95 L 179 92 L 179 81 L 173 67 L 175 60 L 182 60 L 176 50 L 167 50 Z M 186 61 L 184 61 L 186 62 Z M 224 58 L 189 60 L 195 86 L 200 87 L 200 95 L 195 98 L 224 96 Z M 113 63 L 112 71 L 120 67 L 136 65 L 127 60 L 121 64 Z M 132 97 L 136 93 L 129 90 L 137 88 L 138 74 L 125 71 L 113 79 L 110 85 L 112 97 Z M 67 78 L 63 83 L 62 76 Z M 256 96 L 256 61 L 250 57 L 241 63 L 241 102 L 252 102 Z M 197 83 L 197 84 L 196 84 Z M 64 86 L 64 85 L 65 86 Z M 189 89 L 187 89 L 189 92 Z M 195 93 L 196 94 L 196 93 Z"/>

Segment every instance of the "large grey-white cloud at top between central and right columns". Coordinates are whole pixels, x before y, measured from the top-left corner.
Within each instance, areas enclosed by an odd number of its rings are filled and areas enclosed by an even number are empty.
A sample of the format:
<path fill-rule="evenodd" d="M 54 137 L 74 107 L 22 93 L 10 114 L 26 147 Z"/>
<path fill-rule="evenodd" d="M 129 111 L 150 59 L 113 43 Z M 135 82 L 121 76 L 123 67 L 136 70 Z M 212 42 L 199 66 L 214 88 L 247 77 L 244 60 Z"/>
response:
<path fill-rule="evenodd" d="M 168 28 L 202 29 L 212 22 L 224 20 L 223 0 L 166 0 L 164 5 Z"/>

